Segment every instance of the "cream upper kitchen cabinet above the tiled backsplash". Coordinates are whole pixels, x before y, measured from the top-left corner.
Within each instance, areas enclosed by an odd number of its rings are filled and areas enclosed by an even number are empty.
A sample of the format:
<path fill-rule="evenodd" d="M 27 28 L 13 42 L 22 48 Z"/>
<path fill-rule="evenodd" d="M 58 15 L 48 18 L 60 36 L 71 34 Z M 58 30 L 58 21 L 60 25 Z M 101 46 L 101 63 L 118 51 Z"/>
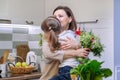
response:
<path fill-rule="evenodd" d="M 45 12 L 44 0 L 0 0 L 0 19 L 12 24 L 40 25 Z"/>

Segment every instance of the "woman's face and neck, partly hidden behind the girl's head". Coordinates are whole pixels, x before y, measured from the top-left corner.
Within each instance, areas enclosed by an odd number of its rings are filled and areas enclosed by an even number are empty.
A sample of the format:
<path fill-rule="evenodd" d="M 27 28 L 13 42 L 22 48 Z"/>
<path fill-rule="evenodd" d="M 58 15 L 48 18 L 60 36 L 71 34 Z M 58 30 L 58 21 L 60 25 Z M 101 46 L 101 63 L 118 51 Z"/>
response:
<path fill-rule="evenodd" d="M 68 30 L 71 17 L 68 17 L 63 9 L 56 10 L 54 16 L 59 19 L 63 30 Z"/>

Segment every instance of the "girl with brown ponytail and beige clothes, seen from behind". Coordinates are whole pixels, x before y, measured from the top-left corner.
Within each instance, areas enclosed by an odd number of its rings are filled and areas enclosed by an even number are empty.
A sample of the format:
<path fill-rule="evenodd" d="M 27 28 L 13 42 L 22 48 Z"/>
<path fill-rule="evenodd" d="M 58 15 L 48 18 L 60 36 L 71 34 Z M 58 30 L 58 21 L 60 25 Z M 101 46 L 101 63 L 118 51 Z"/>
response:
<path fill-rule="evenodd" d="M 54 52 L 60 47 L 60 43 L 58 42 L 58 34 L 61 33 L 61 24 L 56 17 L 50 16 L 42 22 L 41 29 L 44 32 L 43 48 L 45 47 L 46 50 L 43 49 L 45 66 L 42 70 L 42 76 L 40 77 L 40 80 L 49 80 L 50 78 L 58 74 L 58 66 L 60 64 L 60 61 L 58 61 L 57 59 L 48 59 L 47 55 L 51 55 L 49 53 L 50 51 Z M 47 44 L 49 48 L 44 44 Z M 62 58 L 63 54 L 60 55 L 61 57 L 59 56 L 59 58 Z"/>

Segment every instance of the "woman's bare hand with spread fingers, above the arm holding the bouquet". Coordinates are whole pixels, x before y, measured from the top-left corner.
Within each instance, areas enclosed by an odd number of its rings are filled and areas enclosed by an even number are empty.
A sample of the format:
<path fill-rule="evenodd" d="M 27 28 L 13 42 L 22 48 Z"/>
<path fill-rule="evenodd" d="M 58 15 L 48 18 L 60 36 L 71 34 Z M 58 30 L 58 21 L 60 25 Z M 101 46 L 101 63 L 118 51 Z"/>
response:
<path fill-rule="evenodd" d="M 64 43 L 61 43 L 61 49 L 78 49 L 80 47 L 79 43 L 72 40 L 71 38 L 67 37 L 67 39 L 60 39 L 61 41 L 64 41 Z"/>

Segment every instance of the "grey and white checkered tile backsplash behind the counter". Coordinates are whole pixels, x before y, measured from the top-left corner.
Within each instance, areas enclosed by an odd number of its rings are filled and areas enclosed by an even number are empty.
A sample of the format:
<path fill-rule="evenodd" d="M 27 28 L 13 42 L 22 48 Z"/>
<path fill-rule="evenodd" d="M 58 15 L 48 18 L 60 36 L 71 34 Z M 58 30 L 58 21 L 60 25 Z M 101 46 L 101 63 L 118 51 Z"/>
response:
<path fill-rule="evenodd" d="M 19 44 L 28 44 L 30 50 L 40 55 L 40 32 L 40 26 L 0 24 L 0 56 L 6 49 L 15 53 Z"/>

